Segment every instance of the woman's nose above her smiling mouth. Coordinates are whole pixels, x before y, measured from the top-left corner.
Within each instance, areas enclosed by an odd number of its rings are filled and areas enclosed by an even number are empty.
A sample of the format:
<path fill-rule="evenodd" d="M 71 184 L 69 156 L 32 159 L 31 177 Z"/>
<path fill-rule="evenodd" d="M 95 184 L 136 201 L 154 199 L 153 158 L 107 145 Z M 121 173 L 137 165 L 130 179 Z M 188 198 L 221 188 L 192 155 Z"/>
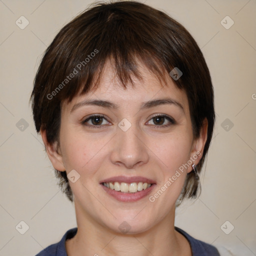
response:
<path fill-rule="evenodd" d="M 126 131 L 117 128 L 110 159 L 113 164 L 126 168 L 135 168 L 148 162 L 148 148 L 135 125 L 131 125 Z"/>

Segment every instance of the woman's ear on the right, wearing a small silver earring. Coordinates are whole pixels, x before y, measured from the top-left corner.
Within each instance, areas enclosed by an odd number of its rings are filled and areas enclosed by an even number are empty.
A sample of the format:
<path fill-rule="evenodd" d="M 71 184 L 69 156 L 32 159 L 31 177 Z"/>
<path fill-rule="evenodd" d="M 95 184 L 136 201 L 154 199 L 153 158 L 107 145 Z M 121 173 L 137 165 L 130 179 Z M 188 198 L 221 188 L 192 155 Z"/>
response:
<path fill-rule="evenodd" d="M 200 135 L 198 138 L 196 138 L 193 142 L 192 149 L 191 149 L 191 154 L 190 154 L 190 159 L 193 159 L 193 163 L 195 165 L 198 164 L 202 157 L 203 153 L 203 148 L 205 145 L 205 142 L 207 140 L 207 128 L 208 128 L 208 120 L 207 118 L 204 118 L 202 122 L 202 126 L 200 129 Z M 191 168 L 192 170 L 192 168 Z M 190 170 L 190 171 L 191 171 Z M 188 172 L 190 172 L 188 171 Z"/>

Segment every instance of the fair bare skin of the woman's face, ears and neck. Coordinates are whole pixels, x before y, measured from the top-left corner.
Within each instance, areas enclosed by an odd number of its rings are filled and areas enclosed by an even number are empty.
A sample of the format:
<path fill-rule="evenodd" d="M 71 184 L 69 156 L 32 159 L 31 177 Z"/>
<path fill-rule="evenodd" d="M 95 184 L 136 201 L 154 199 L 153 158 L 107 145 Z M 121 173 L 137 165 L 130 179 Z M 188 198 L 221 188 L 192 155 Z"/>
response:
<path fill-rule="evenodd" d="M 139 70 L 143 80 L 134 77 L 135 88 L 124 89 L 113 78 L 108 62 L 96 90 L 62 104 L 59 145 L 48 143 L 45 131 L 41 130 L 54 168 L 66 170 L 67 174 L 75 169 L 80 175 L 76 182 L 69 181 L 78 230 L 66 240 L 68 256 L 192 255 L 186 238 L 174 230 L 175 202 L 191 165 L 153 202 L 149 196 L 166 186 L 166 181 L 190 157 L 203 151 L 207 122 L 199 138 L 194 139 L 185 92 L 176 88 L 167 73 L 167 84 L 162 87 L 142 64 Z M 172 103 L 158 102 L 140 109 L 144 102 L 166 98 Z M 110 101 L 116 108 L 80 103 L 94 99 Z M 104 115 L 105 119 L 99 121 L 94 117 L 84 125 L 91 114 Z M 164 114 L 174 122 L 164 117 L 153 118 L 155 114 Z M 123 118 L 131 124 L 126 131 L 118 126 Z M 193 161 L 195 164 L 201 155 Z M 120 201 L 100 184 L 113 176 L 141 176 L 154 184 L 146 196 L 136 201 Z M 123 223 L 129 227 L 127 232 L 119 228 Z"/>

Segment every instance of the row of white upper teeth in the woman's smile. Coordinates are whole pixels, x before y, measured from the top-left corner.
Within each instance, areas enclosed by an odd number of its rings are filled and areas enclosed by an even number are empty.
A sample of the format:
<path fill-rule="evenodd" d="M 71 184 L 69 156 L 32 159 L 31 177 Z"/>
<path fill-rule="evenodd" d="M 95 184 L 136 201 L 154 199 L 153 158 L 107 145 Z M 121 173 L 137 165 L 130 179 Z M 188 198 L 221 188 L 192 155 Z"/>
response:
<path fill-rule="evenodd" d="M 137 191 L 141 191 L 143 189 L 146 189 L 151 186 L 150 183 L 146 182 L 132 182 L 132 183 L 125 183 L 125 182 L 104 182 L 104 186 L 107 188 L 110 188 L 115 191 L 121 191 L 121 192 L 130 192 L 130 193 L 135 193 Z"/>

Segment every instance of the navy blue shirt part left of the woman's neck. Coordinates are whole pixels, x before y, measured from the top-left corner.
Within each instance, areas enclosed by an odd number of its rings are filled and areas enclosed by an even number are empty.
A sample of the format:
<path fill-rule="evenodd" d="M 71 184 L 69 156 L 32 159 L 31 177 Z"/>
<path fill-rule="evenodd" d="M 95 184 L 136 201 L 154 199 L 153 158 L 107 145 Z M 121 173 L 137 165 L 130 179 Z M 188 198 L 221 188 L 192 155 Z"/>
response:
<path fill-rule="evenodd" d="M 65 232 L 61 240 L 57 243 L 51 244 L 41 250 L 35 256 L 67 256 L 65 249 L 65 240 L 72 238 L 77 232 L 77 227 L 71 228 Z"/>

